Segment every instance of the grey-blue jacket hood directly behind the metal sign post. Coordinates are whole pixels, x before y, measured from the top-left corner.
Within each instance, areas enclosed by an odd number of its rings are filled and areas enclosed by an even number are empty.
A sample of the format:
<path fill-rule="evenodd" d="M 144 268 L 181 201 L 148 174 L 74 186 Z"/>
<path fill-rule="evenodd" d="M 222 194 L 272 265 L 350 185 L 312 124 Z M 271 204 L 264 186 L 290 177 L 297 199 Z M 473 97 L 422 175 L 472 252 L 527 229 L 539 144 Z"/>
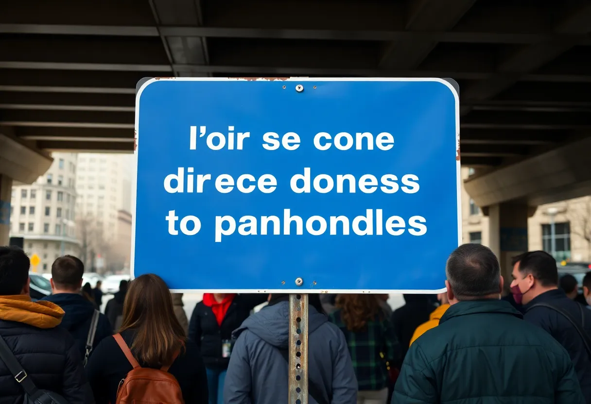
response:
<path fill-rule="evenodd" d="M 278 302 L 272 306 L 261 309 L 258 313 L 246 318 L 242 325 L 232 333 L 238 335 L 244 330 L 258 335 L 261 340 L 277 348 L 286 348 L 290 340 L 289 330 L 290 304 L 289 302 Z M 308 309 L 308 332 L 316 331 L 320 325 L 328 321 L 328 317 L 320 314 L 314 306 Z"/>

